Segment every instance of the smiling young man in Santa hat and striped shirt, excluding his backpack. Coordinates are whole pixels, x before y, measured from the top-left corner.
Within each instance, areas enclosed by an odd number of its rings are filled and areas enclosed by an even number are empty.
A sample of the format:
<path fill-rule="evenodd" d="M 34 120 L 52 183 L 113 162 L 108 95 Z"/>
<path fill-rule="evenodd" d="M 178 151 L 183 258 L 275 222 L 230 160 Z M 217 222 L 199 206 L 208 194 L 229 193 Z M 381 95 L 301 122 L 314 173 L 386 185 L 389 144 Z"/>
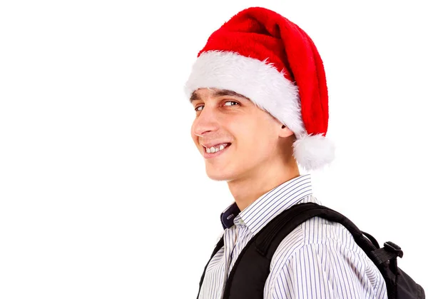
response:
<path fill-rule="evenodd" d="M 199 299 L 223 298 L 248 241 L 285 209 L 319 203 L 307 170 L 330 163 L 327 85 L 312 40 L 283 16 L 240 11 L 198 54 L 186 93 L 192 138 L 208 177 L 235 203 L 221 214 L 224 246 L 210 259 Z M 387 298 L 382 275 L 339 223 L 312 218 L 282 240 L 264 298 Z"/>

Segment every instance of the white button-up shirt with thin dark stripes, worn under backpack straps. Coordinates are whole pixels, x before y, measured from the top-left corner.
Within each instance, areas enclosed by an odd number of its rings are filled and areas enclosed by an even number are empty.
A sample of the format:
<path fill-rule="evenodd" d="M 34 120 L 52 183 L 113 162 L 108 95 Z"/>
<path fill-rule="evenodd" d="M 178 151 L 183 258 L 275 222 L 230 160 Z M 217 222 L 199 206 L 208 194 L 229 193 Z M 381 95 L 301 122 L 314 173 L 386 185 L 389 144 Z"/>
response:
<path fill-rule="evenodd" d="M 310 174 L 273 188 L 244 211 L 233 203 L 221 213 L 225 245 L 210 260 L 198 299 L 222 298 L 230 270 L 248 241 L 285 209 L 307 202 L 321 204 L 312 196 Z M 387 289 L 377 267 L 343 225 L 314 217 L 280 243 L 263 297 L 386 299 Z"/>

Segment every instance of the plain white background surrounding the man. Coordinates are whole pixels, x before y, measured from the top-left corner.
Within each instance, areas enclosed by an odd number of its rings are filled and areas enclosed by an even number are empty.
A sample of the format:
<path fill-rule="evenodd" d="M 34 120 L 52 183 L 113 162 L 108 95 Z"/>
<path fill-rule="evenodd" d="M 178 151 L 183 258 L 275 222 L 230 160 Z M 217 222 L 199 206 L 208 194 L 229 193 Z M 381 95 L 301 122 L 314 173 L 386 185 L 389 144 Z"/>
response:
<path fill-rule="evenodd" d="M 2 1 L 0 298 L 195 298 L 233 202 L 190 138 L 208 36 L 265 6 L 311 36 L 330 94 L 315 196 L 428 289 L 424 1 Z"/>

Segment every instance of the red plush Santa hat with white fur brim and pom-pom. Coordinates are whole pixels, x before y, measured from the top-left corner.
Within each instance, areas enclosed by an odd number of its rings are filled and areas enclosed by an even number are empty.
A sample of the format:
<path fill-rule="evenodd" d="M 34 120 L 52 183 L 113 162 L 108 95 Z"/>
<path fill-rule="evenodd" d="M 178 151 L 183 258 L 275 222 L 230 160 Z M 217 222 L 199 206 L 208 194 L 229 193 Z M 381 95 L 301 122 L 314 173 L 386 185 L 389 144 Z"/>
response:
<path fill-rule="evenodd" d="M 198 88 L 235 91 L 295 133 L 293 156 L 307 170 L 330 163 L 328 95 L 320 54 L 309 36 L 275 11 L 240 11 L 198 53 L 186 96 Z"/>

